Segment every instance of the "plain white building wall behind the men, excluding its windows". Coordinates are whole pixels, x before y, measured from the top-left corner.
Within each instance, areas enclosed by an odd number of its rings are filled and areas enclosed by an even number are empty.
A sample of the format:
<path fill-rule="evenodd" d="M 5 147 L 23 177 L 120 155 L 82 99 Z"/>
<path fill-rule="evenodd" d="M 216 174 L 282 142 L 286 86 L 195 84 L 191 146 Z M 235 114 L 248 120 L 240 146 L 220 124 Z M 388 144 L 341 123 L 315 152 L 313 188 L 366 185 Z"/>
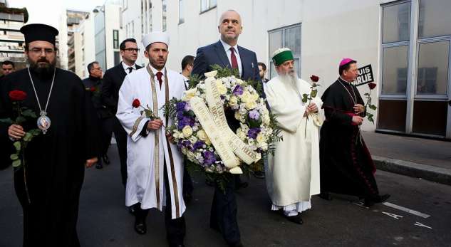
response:
<path fill-rule="evenodd" d="M 167 1 L 167 33 L 170 35 L 167 67 L 180 71 L 186 55 L 195 56 L 200 46 L 219 40 L 219 16 L 234 9 L 242 16 L 243 32 L 239 46 L 256 52 L 257 59 L 269 65 L 268 31 L 301 23 L 301 78 L 318 75 L 323 93 L 338 78 L 341 58 L 354 58 L 358 65 L 371 64 L 375 83 L 378 80 L 380 53 L 380 4 L 388 0 L 218 0 L 217 7 L 203 14 L 199 0 L 184 0 L 185 22 L 179 24 L 178 0 Z M 153 31 L 161 30 L 161 1 L 152 1 Z M 124 23 L 135 20 L 140 45 L 140 1 L 129 1 L 123 12 Z M 142 49 L 142 45 L 140 45 Z M 145 61 L 140 56 L 140 63 Z M 368 87 L 359 87 L 361 95 Z M 373 90 L 377 104 L 378 90 Z M 376 112 L 374 112 L 376 113 Z M 377 117 L 377 116 L 375 116 Z M 366 121 L 363 130 L 374 130 Z"/>

